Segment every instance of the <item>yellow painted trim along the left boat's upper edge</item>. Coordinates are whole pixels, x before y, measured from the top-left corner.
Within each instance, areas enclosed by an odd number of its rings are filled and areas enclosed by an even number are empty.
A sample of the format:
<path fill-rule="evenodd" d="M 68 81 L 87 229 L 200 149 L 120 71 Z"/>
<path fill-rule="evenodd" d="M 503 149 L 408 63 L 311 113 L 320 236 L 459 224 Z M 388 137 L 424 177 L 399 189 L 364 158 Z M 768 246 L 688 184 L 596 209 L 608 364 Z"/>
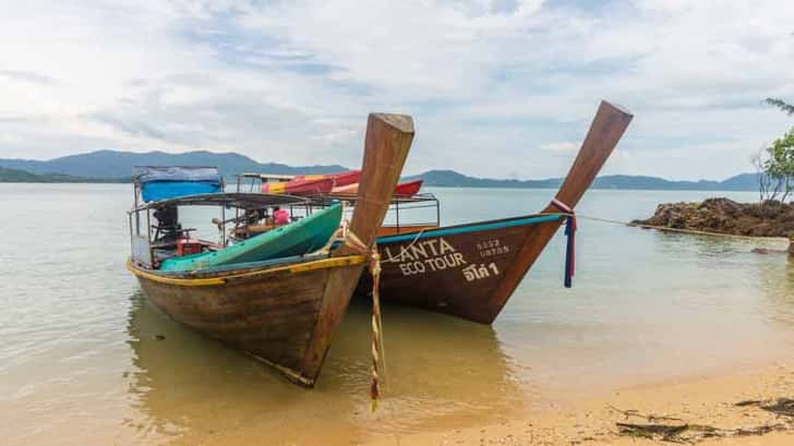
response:
<path fill-rule="evenodd" d="M 147 273 L 139 269 L 132 264 L 132 261 L 127 261 L 127 269 L 137 277 L 142 277 L 147 280 L 156 281 L 159 284 L 168 284 L 181 287 L 213 287 L 219 285 L 226 285 L 229 279 L 239 279 L 243 277 L 262 276 L 274 273 L 288 272 L 290 274 L 306 273 L 314 269 L 336 268 L 340 266 L 360 265 L 366 261 L 363 255 L 346 255 L 342 257 L 330 257 L 318 261 L 298 263 L 293 265 L 279 266 L 275 268 L 268 268 L 264 270 L 257 270 L 252 273 L 233 274 L 224 277 L 206 277 L 206 278 L 175 278 L 166 277 L 159 274 Z"/>

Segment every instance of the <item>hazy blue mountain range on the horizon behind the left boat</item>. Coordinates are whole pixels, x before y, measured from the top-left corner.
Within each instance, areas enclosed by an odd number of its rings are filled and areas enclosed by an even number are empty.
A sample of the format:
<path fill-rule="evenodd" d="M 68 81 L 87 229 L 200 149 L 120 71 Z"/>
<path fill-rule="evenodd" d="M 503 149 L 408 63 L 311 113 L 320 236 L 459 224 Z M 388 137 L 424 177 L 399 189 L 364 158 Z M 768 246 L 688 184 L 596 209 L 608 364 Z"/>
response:
<path fill-rule="evenodd" d="M 205 150 L 182 154 L 99 150 L 46 161 L 0 158 L 0 167 L 8 169 L 39 174 L 60 173 L 86 178 L 130 178 L 133 166 L 217 166 L 220 173 L 227 178 L 243 172 L 306 174 L 347 170 L 347 168 L 337 165 L 291 167 L 275 162 L 261 164 L 236 153 L 216 154 Z"/>

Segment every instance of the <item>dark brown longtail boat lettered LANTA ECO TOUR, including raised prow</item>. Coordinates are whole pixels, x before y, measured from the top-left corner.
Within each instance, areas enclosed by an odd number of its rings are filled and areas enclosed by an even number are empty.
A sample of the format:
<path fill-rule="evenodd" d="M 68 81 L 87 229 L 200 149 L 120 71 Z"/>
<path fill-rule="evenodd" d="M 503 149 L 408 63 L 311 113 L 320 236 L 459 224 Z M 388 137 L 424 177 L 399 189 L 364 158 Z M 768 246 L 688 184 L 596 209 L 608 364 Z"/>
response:
<path fill-rule="evenodd" d="M 554 201 L 540 214 L 380 237 L 381 299 L 491 324 L 609 158 L 631 114 L 602 103 Z M 573 274 L 573 229 L 568 265 Z M 566 276 L 569 281 L 569 276 Z M 364 275 L 358 293 L 365 294 Z M 569 285 L 569 284 L 567 284 Z"/>

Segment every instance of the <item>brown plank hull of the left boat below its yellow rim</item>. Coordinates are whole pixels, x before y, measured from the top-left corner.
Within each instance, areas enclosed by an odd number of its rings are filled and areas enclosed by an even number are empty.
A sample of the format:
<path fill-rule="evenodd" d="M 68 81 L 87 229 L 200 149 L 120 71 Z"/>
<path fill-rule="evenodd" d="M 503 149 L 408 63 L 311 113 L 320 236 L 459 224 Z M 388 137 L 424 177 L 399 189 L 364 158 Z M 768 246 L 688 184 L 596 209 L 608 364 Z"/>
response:
<path fill-rule="evenodd" d="M 310 336 L 321 309 L 350 296 L 354 280 L 330 287 L 333 276 L 360 274 L 361 255 L 207 274 L 157 274 L 128 263 L 144 293 L 176 321 L 313 386 L 330 337 Z M 315 354 L 314 352 L 318 352 Z"/>

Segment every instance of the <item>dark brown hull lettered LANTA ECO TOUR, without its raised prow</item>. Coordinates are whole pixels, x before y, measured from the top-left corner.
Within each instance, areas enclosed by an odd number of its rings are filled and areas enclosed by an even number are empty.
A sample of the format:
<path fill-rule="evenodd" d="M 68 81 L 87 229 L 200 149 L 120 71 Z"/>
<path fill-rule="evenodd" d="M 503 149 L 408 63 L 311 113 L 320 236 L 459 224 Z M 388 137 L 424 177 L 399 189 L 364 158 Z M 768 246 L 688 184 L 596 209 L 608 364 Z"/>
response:
<path fill-rule="evenodd" d="M 497 290 L 524 278 L 505 272 L 526 274 L 531 266 L 518 256 L 521 246 L 540 226 L 560 219 L 525 216 L 378 238 L 381 299 L 491 324 L 504 304 Z M 363 275 L 357 294 L 366 294 L 371 280 Z"/>

